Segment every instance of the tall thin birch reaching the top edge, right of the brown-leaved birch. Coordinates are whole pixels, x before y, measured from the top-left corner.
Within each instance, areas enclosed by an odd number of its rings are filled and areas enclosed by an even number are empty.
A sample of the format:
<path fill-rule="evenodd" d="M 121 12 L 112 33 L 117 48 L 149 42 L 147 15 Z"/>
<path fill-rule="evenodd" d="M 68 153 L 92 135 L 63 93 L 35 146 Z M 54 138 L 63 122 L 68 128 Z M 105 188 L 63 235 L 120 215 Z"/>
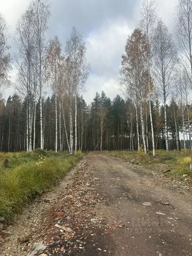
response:
<path fill-rule="evenodd" d="M 153 130 L 153 119 L 151 111 L 151 44 L 154 37 L 154 26 L 156 22 L 156 9 L 154 0 L 143 0 L 141 7 L 141 29 L 146 36 L 147 40 L 147 76 L 148 76 L 148 90 L 149 90 L 149 112 L 151 121 L 151 133 L 152 133 L 152 145 L 153 145 L 153 156 L 155 156 L 155 141 L 154 141 L 154 130 Z"/>

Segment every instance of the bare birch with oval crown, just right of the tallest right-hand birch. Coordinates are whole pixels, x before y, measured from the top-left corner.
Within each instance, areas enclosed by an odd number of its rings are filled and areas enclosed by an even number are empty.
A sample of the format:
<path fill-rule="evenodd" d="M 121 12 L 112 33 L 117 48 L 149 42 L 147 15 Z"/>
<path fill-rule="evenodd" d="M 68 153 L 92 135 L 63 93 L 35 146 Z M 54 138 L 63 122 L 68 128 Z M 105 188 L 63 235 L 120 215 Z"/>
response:
<path fill-rule="evenodd" d="M 177 61 L 177 50 L 172 35 L 162 22 L 158 21 L 153 42 L 154 74 L 157 91 L 164 105 L 166 151 L 169 153 L 166 103 L 173 94 L 173 71 Z"/>

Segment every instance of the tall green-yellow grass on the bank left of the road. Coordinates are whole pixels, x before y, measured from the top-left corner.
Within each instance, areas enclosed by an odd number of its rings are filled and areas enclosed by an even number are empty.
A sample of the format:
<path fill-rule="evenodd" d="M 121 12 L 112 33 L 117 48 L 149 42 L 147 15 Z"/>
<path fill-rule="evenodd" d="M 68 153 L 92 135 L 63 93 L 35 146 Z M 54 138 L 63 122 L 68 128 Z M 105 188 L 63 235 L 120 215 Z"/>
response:
<path fill-rule="evenodd" d="M 8 223 L 42 190 L 53 187 L 57 180 L 77 163 L 83 153 L 37 149 L 31 153 L 0 153 L 0 219 Z M 3 218 L 2 218 L 3 217 Z"/>

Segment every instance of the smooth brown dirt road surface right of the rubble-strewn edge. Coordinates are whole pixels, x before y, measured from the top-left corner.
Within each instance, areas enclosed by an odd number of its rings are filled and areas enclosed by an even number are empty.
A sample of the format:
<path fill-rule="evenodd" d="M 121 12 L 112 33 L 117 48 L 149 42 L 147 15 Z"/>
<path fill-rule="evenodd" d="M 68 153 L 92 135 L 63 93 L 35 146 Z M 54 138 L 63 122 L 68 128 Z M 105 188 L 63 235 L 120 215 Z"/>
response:
<path fill-rule="evenodd" d="M 111 226 L 115 255 L 192 255 L 192 197 L 156 185 L 158 180 L 127 168 L 121 160 L 92 154 L 100 178 L 97 189 L 108 198 L 98 207 Z"/>

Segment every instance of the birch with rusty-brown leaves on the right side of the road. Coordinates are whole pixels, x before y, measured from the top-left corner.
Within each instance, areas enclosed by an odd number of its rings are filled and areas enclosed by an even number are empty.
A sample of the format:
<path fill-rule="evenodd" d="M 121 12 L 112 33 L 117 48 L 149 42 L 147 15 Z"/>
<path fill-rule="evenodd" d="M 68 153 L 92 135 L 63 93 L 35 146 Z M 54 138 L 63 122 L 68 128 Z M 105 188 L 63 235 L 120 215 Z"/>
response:
<path fill-rule="evenodd" d="M 147 70 L 145 63 L 147 61 L 147 39 L 142 34 L 141 30 L 136 28 L 131 36 L 128 38 L 125 45 L 125 54 L 122 56 L 122 68 L 120 74 L 123 81 L 130 88 L 134 95 L 134 104 L 136 109 L 137 119 L 137 104 L 140 108 L 140 120 L 141 120 L 141 132 L 144 145 L 144 151 L 146 150 L 146 142 L 144 135 L 144 120 L 143 120 L 143 103 L 147 95 L 146 77 Z M 138 128 L 138 121 L 137 121 Z M 137 129 L 138 130 L 138 129 Z M 139 141 L 139 138 L 138 138 Z M 138 142 L 139 143 L 139 142 Z M 139 149 L 139 148 L 138 148 Z"/>

